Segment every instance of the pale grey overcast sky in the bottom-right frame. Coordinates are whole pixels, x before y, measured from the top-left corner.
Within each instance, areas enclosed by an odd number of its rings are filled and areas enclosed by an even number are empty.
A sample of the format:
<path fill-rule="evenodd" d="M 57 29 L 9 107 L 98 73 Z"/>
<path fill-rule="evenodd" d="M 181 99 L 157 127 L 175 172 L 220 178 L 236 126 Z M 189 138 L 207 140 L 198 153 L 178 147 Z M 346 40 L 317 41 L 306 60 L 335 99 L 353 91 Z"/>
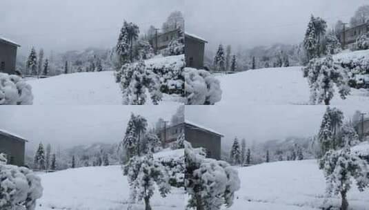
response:
<path fill-rule="evenodd" d="M 337 106 L 346 120 L 355 111 L 369 113 L 366 104 Z M 186 106 L 186 119 L 222 133 L 222 145 L 232 144 L 235 137 L 246 141 L 265 142 L 286 137 L 310 137 L 319 131 L 326 106 Z"/>

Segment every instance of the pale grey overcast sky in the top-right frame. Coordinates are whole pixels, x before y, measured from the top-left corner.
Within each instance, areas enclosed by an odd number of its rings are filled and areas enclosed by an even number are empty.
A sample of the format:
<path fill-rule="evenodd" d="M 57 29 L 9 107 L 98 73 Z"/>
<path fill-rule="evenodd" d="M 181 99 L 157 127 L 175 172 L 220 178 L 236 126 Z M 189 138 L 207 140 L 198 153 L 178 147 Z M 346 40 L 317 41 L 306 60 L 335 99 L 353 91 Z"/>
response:
<path fill-rule="evenodd" d="M 208 50 L 221 42 L 252 48 L 275 43 L 298 44 L 310 14 L 334 26 L 348 22 L 368 0 L 186 0 L 186 30 L 209 41 Z"/>

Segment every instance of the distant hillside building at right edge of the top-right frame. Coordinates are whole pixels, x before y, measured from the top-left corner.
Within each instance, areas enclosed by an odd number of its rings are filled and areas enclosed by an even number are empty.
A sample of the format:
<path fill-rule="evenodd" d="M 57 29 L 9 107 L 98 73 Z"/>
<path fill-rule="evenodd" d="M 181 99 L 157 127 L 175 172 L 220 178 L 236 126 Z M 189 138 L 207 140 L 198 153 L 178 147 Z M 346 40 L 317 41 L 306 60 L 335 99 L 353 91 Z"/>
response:
<path fill-rule="evenodd" d="M 341 42 L 341 46 L 346 48 L 352 48 L 353 44 L 355 44 L 356 39 L 365 35 L 369 32 L 369 23 L 363 23 L 359 26 L 346 28 L 341 33 L 339 33 L 339 41 Z"/>

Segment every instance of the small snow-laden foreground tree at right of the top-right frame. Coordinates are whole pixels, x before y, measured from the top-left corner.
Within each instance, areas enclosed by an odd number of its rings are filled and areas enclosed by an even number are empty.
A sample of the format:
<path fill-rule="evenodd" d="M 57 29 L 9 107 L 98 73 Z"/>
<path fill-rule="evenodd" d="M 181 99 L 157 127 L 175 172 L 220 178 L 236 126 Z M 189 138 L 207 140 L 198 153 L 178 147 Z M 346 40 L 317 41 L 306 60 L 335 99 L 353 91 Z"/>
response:
<path fill-rule="evenodd" d="M 312 104 L 324 102 L 329 105 L 335 93 L 334 84 L 339 89 L 341 99 L 346 99 L 350 94 L 348 73 L 346 69 L 333 62 L 332 55 L 327 55 L 323 59 L 311 59 L 308 66 L 303 68 L 303 77 L 308 78 Z"/>

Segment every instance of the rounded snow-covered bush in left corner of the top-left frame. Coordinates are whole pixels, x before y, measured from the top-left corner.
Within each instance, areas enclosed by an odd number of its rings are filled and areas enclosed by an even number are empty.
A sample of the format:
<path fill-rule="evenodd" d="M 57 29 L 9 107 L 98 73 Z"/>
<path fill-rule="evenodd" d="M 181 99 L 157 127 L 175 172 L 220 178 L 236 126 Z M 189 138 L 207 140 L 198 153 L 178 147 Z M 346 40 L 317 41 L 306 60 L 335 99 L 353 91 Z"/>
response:
<path fill-rule="evenodd" d="M 0 73 L 0 105 L 30 105 L 32 87 L 17 75 Z"/>

